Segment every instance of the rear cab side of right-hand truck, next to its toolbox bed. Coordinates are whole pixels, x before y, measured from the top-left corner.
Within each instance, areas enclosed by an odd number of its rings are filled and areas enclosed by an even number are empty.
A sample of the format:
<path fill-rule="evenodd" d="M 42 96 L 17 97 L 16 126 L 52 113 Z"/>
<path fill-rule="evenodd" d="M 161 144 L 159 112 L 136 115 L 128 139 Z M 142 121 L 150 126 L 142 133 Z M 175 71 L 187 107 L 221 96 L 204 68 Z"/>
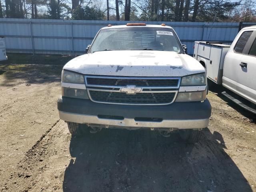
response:
<path fill-rule="evenodd" d="M 238 76 L 243 72 L 240 63 L 242 62 L 245 46 L 252 35 L 252 32 L 252 30 L 242 30 L 240 35 L 235 38 L 224 60 L 222 84 L 237 94 L 239 94 L 237 92 Z"/>

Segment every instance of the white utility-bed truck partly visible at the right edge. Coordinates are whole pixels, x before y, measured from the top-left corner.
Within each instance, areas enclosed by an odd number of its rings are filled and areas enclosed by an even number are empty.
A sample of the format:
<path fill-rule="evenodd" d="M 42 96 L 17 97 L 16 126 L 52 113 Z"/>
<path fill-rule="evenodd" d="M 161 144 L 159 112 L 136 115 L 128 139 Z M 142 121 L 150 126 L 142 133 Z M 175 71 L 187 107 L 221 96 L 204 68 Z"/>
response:
<path fill-rule="evenodd" d="M 231 45 L 196 41 L 194 58 L 208 79 L 235 93 L 224 96 L 256 114 L 256 26 L 243 28 Z"/>

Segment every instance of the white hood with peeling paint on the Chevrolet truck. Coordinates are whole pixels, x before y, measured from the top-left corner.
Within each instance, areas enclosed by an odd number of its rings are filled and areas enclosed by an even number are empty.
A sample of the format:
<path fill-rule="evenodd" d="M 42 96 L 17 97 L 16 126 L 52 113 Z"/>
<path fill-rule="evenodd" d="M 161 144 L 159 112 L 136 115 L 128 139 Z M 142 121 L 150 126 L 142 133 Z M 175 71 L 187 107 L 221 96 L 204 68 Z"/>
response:
<path fill-rule="evenodd" d="M 63 69 L 87 75 L 179 77 L 205 72 L 186 54 L 170 51 L 100 51 L 78 56 Z"/>

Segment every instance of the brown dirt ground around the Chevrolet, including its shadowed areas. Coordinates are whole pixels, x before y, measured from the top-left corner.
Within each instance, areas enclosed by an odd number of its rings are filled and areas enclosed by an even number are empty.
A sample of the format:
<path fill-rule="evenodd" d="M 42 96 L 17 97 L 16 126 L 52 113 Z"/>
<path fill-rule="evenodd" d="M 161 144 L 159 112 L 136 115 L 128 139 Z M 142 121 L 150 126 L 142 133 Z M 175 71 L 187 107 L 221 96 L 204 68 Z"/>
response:
<path fill-rule="evenodd" d="M 152 131 L 71 137 L 59 120 L 71 58 L 9 54 L 0 62 L 2 192 L 256 192 L 255 116 L 210 89 L 210 125 L 196 144 Z"/>

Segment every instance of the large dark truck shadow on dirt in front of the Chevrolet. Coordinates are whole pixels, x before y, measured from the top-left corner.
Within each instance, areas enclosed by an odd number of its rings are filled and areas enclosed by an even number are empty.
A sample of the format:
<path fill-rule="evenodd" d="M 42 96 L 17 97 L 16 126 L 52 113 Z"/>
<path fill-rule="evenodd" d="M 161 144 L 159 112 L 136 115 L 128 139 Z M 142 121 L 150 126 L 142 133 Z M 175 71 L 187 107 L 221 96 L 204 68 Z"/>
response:
<path fill-rule="evenodd" d="M 218 141 L 219 142 L 218 142 Z M 177 134 L 102 130 L 72 137 L 64 192 L 251 192 L 250 185 L 223 150 L 220 133 L 203 131 L 197 144 Z"/>

